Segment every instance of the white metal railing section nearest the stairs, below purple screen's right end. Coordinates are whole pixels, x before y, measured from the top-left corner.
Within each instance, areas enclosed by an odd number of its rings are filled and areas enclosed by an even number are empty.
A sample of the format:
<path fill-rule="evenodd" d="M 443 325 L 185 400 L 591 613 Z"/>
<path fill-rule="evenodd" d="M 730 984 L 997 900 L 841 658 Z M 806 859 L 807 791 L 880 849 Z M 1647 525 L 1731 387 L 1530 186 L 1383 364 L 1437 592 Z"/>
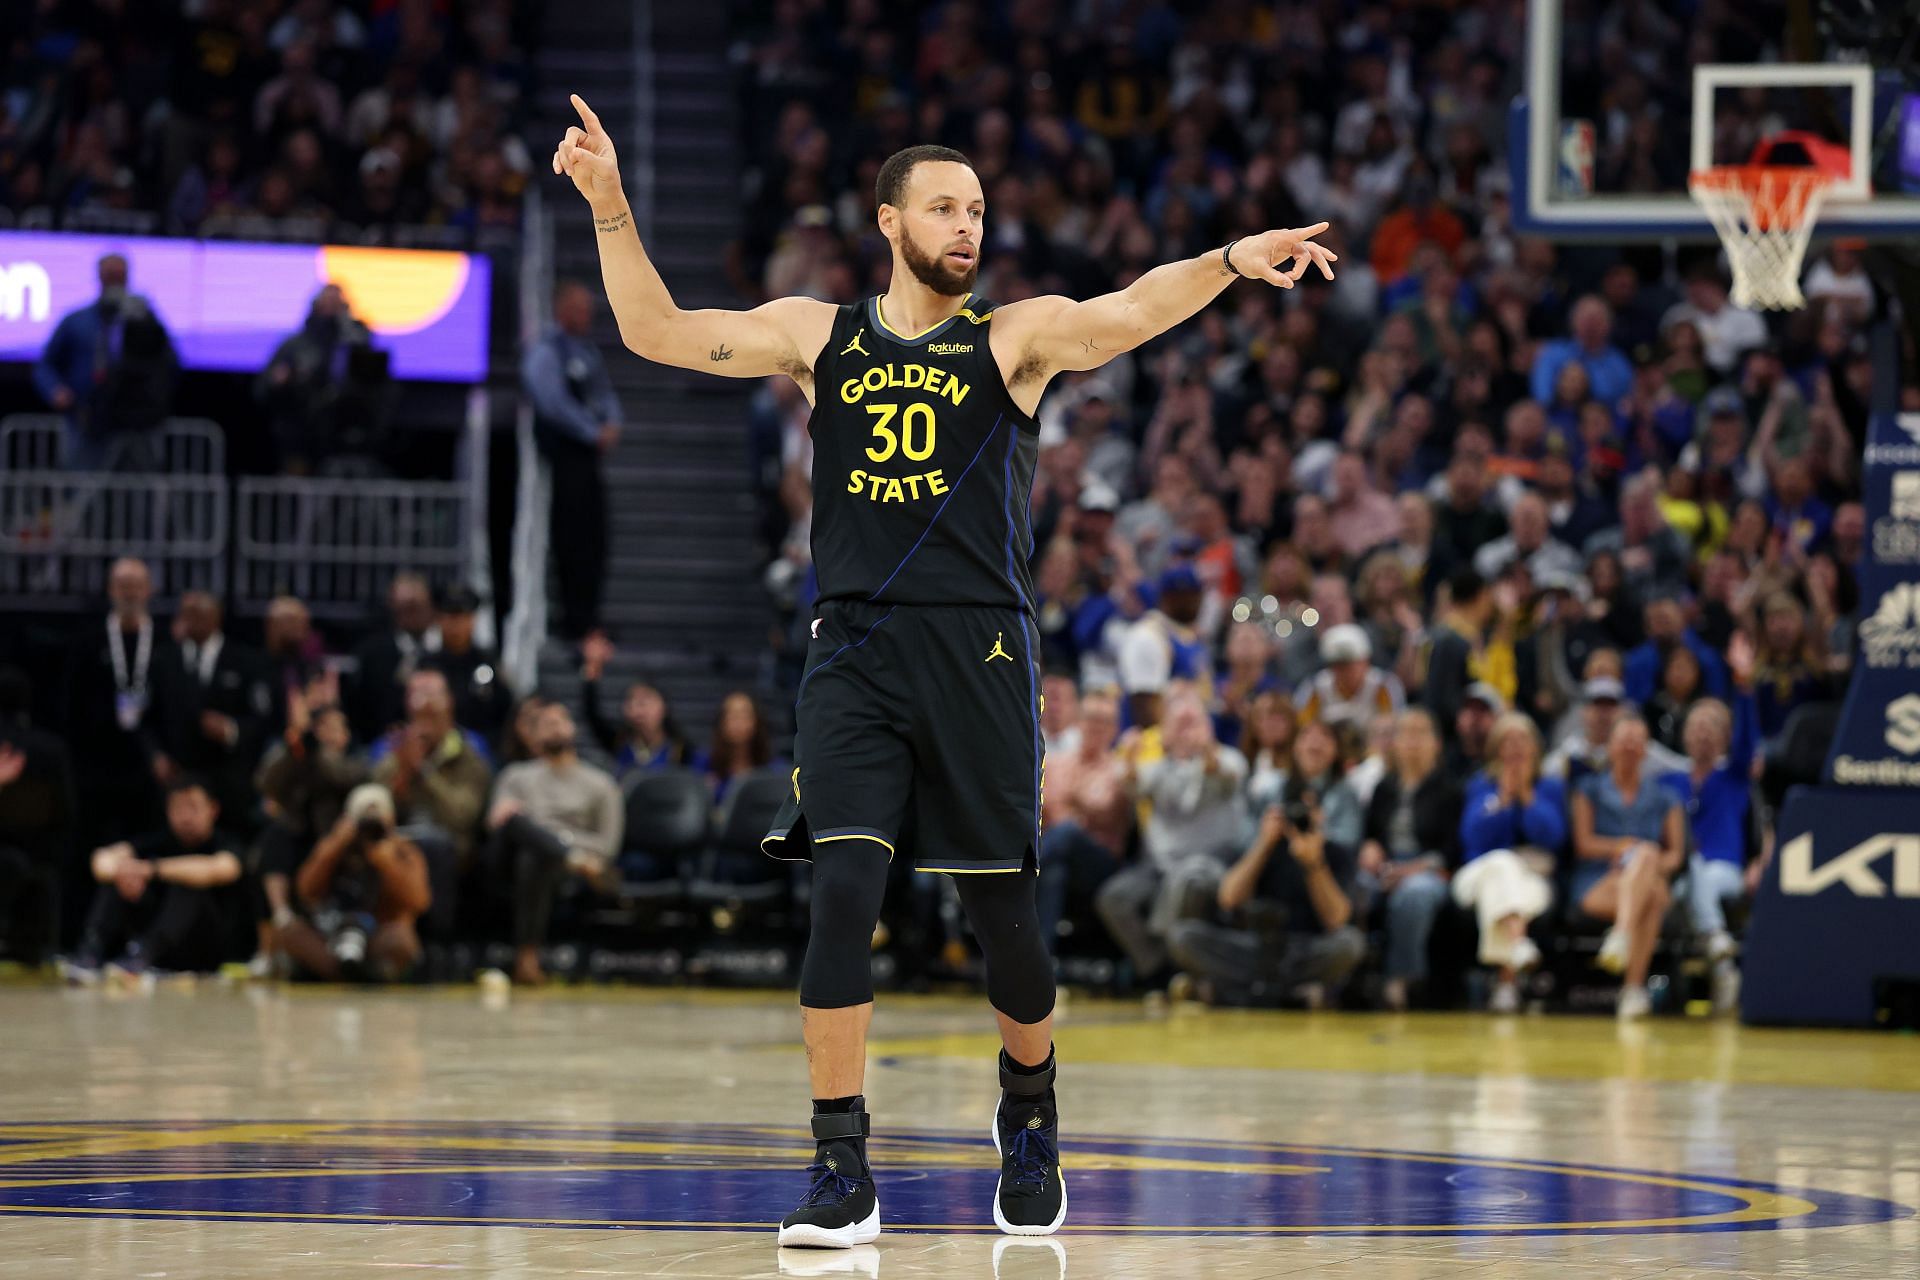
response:
<path fill-rule="evenodd" d="M 234 486 L 234 606 L 298 595 L 317 618 L 357 618 L 394 574 L 438 589 L 467 580 L 461 482 L 248 476 Z"/>

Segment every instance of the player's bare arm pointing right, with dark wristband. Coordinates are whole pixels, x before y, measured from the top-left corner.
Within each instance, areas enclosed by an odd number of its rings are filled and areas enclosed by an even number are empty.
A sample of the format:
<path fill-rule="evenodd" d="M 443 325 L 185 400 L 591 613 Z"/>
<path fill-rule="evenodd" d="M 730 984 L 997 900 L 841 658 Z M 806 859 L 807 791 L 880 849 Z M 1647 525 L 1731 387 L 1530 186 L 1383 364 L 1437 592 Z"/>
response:
<path fill-rule="evenodd" d="M 1319 267 L 1332 280 L 1338 255 L 1313 242 L 1323 230 L 1327 223 L 1242 236 L 1225 249 L 1154 267 L 1117 294 L 1087 301 L 1054 296 L 1008 303 L 996 311 L 996 324 L 1016 330 L 1021 370 L 1050 376 L 1098 368 L 1192 317 L 1238 278 L 1290 290 L 1308 267 Z M 1294 263 L 1281 271 L 1286 259 Z"/>

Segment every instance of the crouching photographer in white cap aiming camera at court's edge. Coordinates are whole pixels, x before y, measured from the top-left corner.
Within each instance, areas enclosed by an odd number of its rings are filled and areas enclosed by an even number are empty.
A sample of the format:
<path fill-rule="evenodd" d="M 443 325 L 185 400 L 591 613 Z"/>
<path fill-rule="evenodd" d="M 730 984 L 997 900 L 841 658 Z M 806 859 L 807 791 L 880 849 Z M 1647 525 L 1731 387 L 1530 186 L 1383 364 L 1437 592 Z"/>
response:
<path fill-rule="evenodd" d="M 415 921 L 432 906 L 426 858 L 394 831 L 394 796 L 365 783 L 296 881 L 303 917 L 275 931 L 296 973 L 323 983 L 396 983 L 420 958 Z"/>

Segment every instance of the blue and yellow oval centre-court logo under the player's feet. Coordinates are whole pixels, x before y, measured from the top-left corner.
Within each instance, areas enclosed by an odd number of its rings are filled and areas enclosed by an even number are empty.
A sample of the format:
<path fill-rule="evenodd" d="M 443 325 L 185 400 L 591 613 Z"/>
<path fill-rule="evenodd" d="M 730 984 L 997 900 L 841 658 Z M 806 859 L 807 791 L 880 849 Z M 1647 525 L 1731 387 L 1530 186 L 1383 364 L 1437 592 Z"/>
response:
<path fill-rule="evenodd" d="M 751 1125 L 46 1123 L 0 1125 L 0 1221 L 637 1230 L 764 1230 L 803 1194 L 810 1155 L 803 1130 Z M 889 1230 L 993 1230 L 996 1161 L 977 1134 L 876 1136 L 872 1155 Z M 1914 1215 L 1711 1174 L 1265 1142 L 1069 1134 L 1066 1169 L 1066 1230 L 1087 1234 L 1661 1234 Z"/>

